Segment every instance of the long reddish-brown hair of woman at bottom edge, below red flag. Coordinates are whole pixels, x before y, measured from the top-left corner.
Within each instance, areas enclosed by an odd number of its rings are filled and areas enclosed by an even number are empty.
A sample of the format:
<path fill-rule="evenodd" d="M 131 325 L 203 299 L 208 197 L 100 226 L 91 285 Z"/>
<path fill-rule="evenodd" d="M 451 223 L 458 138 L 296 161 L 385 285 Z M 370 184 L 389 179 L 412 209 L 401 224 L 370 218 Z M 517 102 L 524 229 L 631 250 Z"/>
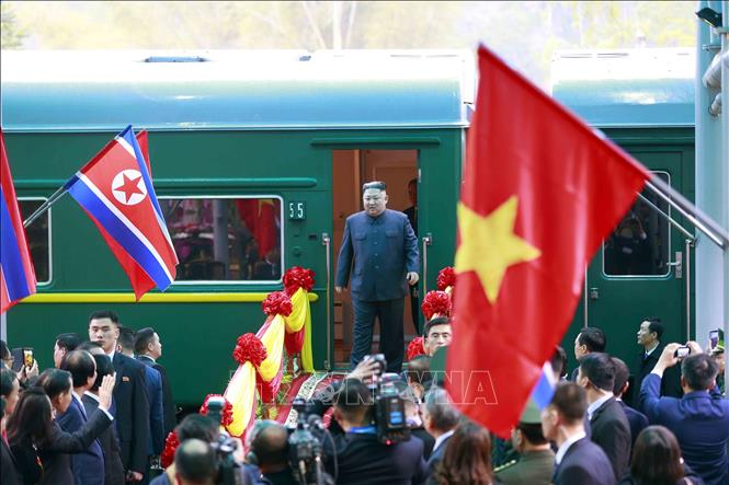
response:
<path fill-rule="evenodd" d="M 489 432 L 470 422 L 459 425 L 445 448 L 443 461 L 436 465 L 435 474 L 438 483 L 493 483 Z"/>

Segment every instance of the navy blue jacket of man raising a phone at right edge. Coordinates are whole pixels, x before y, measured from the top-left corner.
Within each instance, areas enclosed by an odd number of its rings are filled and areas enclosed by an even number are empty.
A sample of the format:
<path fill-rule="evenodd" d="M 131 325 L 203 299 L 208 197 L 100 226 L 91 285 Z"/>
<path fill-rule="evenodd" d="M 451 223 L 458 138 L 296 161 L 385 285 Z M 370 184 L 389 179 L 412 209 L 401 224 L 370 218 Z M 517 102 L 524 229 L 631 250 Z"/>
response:
<path fill-rule="evenodd" d="M 729 400 L 706 391 L 690 392 L 681 399 L 661 397 L 660 385 L 660 378 L 651 373 L 640 388 L 640 402 L 650 424 L 673 431 L 686 464 L 706 485 L 729 483 Z"/>

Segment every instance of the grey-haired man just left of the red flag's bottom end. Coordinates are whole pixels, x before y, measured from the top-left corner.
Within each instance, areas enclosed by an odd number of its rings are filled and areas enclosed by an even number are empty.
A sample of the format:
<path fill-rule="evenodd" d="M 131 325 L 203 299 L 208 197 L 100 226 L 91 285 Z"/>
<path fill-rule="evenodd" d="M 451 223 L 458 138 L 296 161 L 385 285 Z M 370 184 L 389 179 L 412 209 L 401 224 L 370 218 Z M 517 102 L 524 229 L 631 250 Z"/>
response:
<path fill-rule="evenodd" d="M 428 459 L 428 476 L 433 476 L 435 465 L 443 460 L 448 440 L 456 431 L 460 420 L 460 413 L 453 405 L 448 393 L 444 389 L 433 388 L 425 394 L 423 406 L 423 424 L 425 429 L 435 438 L 433 451 Z"/>

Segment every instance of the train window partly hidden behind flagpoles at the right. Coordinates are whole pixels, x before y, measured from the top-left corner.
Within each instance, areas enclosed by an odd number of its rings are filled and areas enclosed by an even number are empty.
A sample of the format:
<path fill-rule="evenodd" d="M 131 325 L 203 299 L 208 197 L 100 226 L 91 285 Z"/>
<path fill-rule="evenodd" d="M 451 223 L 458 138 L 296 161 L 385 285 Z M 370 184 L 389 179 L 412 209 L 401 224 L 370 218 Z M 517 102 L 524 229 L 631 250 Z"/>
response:
<path fill-rule="evenodd" d="M 653 172 L 665 183 L 665 172 Z M 651 190 L 643 197 L 671 215 L 668 203 Z M 671 254 L 670 222 L 645 200 L 638 198 L 603 243 L 603 273 L 606 276 L 668 276 Z"/>

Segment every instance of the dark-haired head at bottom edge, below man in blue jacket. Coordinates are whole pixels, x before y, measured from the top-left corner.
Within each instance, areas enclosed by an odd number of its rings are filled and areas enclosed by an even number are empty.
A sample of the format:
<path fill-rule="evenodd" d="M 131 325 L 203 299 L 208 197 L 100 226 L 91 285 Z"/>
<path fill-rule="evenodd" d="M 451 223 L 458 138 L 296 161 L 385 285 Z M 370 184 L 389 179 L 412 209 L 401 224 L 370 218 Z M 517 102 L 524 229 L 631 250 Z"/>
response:
<path fill-rule="evenodd" d="M 663 426 L 649 426 L 636 438 L 630 475 L 639 485 L 675 484 L 684 476 L 681 448 Z"/>

